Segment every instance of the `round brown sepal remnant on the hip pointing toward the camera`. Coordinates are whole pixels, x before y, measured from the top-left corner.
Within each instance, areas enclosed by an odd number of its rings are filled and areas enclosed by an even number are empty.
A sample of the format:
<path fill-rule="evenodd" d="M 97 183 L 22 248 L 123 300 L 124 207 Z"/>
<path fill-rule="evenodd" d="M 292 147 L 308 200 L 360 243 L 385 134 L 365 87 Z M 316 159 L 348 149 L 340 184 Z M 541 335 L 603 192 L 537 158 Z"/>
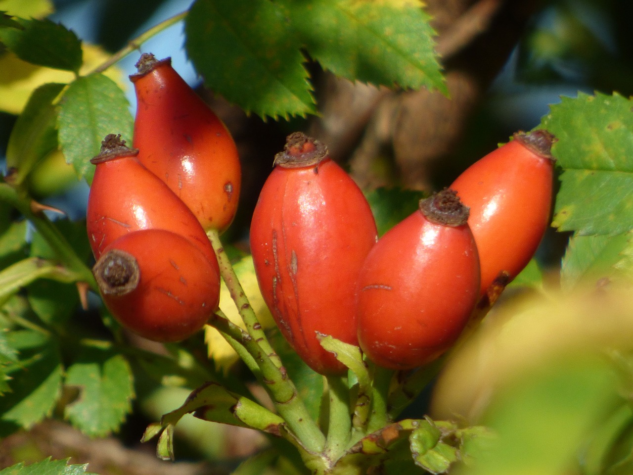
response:
<path fill-rule="evenodd" d="M 102 255 L 92 267 L 92 273 L 103 295 L 127 295 L 137 288 L 141 279 L 136 258 L 118 249 Z"/>

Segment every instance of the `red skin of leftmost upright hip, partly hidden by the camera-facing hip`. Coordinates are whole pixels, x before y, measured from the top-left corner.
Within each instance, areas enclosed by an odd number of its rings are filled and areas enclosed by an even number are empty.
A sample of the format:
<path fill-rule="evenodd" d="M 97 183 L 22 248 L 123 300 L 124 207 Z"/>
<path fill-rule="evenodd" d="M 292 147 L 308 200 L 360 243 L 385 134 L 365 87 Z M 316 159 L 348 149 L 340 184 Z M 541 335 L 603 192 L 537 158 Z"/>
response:
<path fill-rule="evenodd" d="M 212 265 L 218 266 L 213 247 L 191 210 L 135 156 L 96 164 L 88 195 L 86 226 L 97 259 L 124 234 L 140 229 L 166 229 L 185 236 Z"/>

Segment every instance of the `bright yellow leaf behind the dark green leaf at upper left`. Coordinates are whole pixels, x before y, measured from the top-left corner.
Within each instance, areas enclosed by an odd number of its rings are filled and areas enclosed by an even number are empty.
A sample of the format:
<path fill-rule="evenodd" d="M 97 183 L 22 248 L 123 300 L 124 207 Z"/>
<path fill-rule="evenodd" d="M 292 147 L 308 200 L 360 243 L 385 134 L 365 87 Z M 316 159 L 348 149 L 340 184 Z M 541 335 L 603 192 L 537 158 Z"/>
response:
<path fill-rule="evenodd" d="M 84 65 L 79 70 L 80 74 L 90 72 L 109 57 L 98 46 L 84 43 L 82 49 Z M 109 68 L 104 75 L 115 81 L 121 89 L 127 89 L 128 82 L 116 66 Z M 73 79 L 75 75 L 72 72 L 35 66 L 18 59 L 15 54 L 6 53 L 0 57 L 0 111 L 17 115 L 40 85 L 47 82 L 68 83 Z"/>

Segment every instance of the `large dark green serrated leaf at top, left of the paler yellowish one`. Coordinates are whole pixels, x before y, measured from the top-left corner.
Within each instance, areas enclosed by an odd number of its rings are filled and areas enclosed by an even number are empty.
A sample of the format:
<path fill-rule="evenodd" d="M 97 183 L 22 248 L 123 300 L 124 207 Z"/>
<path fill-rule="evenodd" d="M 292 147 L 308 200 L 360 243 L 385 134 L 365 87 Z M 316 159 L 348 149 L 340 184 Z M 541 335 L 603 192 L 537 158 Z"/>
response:
<path fill-rule="evenodd" d="M 185 32 L 204 83 L 247 113 L 276 119 L 315 112 L 299 44 L 276 3 L 196 0 Z"/>

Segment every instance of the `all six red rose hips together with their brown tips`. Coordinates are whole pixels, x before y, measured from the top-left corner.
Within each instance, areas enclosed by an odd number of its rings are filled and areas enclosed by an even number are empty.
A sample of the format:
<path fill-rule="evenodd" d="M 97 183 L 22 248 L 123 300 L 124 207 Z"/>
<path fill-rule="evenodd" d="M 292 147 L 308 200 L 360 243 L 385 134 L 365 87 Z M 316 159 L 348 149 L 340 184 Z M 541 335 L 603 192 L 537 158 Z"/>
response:
<path fill-rule="evenodd" d="M 134 148 L 103 141 L 87 210 L 104 301 L 132 331 L 178 341 L 218 306 L 220 273 L 206 232 L 224 231 L 239 196 L 234 141 L 173 70 L 144 54 Z M 251 221 L 261 293 L 313 370 L 346 367 L 331 335 L 390 369 L 445 352 L 478 303 L 490 305 L 527 265 L 549 222 L 553 136 L 519 132 L 378 238 L 365 196 L 327 148 L 287 137 Z"/>

